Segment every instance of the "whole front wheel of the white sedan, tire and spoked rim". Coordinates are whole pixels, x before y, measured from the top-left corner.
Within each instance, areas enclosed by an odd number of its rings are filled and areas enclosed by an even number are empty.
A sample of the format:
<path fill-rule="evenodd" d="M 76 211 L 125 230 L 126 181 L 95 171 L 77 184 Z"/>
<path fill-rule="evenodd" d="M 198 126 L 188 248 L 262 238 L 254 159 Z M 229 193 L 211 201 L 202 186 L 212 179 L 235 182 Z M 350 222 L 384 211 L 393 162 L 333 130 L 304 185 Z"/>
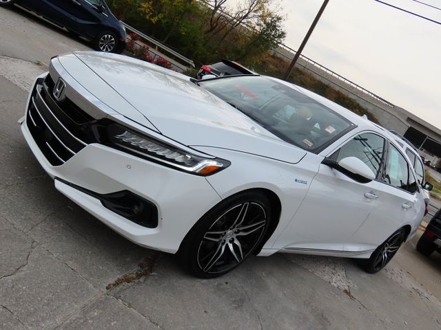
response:
<path fill-rule="evenodd" d="M 271 220 L 270 202 L 241 192 L 218 203 L 189 231 L 178 252 L 183 267 L 199 278 L 234 270 L 258 247 Z"/>

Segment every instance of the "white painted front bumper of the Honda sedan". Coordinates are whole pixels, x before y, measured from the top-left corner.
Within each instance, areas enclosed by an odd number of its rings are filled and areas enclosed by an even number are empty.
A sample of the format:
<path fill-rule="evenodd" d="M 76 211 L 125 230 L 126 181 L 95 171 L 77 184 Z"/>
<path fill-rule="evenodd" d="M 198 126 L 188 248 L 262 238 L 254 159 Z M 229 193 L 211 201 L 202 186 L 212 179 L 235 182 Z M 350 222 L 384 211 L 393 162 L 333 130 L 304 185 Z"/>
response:
<path fill-rule="evenodd" d="M 28 122 L 28 111 L 31 104 L 34 104 L 32 94 L 21 131 L 41 166 L 54 178 L 57 190 L 130 241 L 174 253 L 194 223 L 220 201 L 205 177 L 183 173 L 97 143 L 83 146 L 63 164 L 54 165 L 30 132 L 28 124 L 33 123 Z M 97 194 L 129 190 L 156 206 L 158 225 L 156 228 L 138 225 L 105 208 L 100 199 L 63 181 Z"/>

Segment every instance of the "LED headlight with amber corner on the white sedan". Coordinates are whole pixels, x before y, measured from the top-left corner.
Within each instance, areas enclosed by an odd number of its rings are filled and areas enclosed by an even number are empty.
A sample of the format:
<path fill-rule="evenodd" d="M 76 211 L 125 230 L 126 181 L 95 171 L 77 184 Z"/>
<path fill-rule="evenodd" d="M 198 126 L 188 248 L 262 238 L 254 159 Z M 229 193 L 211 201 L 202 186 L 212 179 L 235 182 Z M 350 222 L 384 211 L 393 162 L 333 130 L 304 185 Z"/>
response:
<path fill-rule="evenodd" d="M 107 126 L 107 136 L 116 148 L 196 175 L 212 175 L 231 164 L 225 159 L 192 155 L 119 124 Z"/>

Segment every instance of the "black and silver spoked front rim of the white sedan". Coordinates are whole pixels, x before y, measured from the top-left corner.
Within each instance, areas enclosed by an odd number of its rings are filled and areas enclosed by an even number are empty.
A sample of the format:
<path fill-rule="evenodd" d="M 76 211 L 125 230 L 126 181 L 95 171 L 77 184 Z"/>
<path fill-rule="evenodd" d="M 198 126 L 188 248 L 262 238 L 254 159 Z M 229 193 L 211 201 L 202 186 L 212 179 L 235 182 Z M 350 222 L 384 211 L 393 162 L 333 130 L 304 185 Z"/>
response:
<path fill-rule="evenodd" d="M 240 203 L 223 213 L 203 236 L 198 265 L 203 272 L 229 270 L 245 259 L 265 231 L 267 217 L 259 203 Z"/>

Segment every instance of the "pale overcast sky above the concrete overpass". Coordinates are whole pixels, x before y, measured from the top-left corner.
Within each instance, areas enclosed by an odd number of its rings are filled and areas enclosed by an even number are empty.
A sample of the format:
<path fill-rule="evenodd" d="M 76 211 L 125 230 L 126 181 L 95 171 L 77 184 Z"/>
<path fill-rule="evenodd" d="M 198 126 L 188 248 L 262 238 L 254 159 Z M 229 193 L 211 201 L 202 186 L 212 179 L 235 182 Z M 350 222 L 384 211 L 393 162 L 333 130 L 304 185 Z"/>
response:
<path fill-rule="evenodd" d="M 323 0 L 276 1 L 297 50 Z M 441 22 L 417 1 L 382 1 Z M 374 0 L 330 0 L 302 54 L 441 129 L 440 36 L 441 25 Z"/>

